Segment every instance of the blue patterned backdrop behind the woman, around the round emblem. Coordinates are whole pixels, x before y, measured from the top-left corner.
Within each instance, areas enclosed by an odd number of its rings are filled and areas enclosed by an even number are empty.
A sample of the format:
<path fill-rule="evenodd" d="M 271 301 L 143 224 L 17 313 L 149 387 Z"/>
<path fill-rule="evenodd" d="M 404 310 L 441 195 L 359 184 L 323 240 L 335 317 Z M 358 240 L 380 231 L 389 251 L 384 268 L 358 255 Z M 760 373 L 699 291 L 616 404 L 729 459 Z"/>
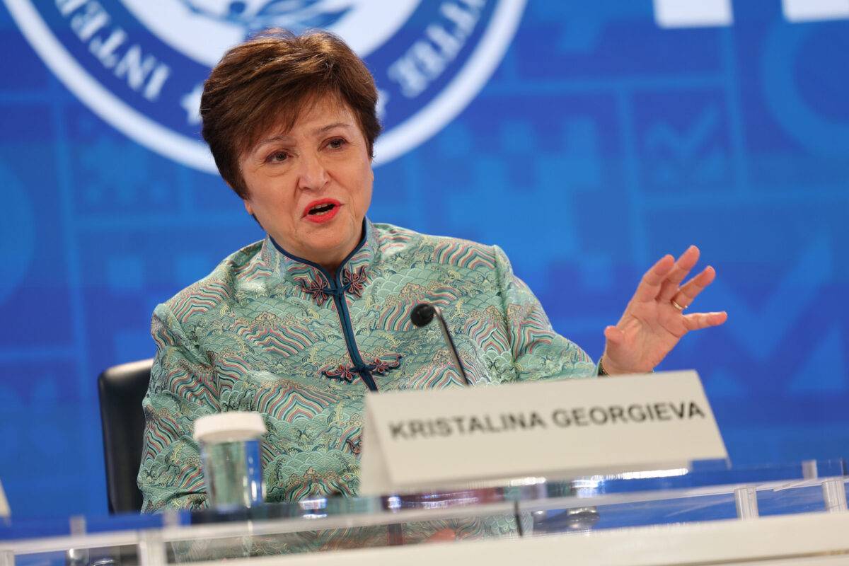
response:
<path fill-rule="evenodd" d="M 12 17 L 26 2 L 5 2 L 0 479 L 16 515 L 104 513 L 97 374 L 152 356 L 154 306 L 261 233 L 218 177 L 66 87 Z M 32 4 L 60 38 L 60 10 L 83 9 Z M 138 2 L 100 4 L 118 19 Z M 498 2 L 424 2 L 393 41 L 449 4 L 480 8 L 459 76 Z M 672 4 L 531 0 L 458 115 L 376 168 L 369 216 L 499 244 L 596 358 L 642 272 L 700 245 L 718 276 L 697 305 L 729 320 L 659 369 L 700 372 L 735 463 L 845 456 L 849 14 L 692 0 L 711 14 L 676 20 Z M 450 77 L 430 78 L 432 99 Z M 387 122 L 424 102 L 388 98 Z"/>

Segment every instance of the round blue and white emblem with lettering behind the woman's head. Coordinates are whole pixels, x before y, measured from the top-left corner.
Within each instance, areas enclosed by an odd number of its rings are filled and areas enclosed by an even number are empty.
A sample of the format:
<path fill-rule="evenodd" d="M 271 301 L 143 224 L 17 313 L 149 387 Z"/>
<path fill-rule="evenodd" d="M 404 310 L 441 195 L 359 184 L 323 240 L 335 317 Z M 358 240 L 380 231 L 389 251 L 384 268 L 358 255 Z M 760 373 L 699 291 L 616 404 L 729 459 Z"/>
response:
<path fill-rule="evenodd" d="M 215 172 L 200 92 L 222 54 L 256 31 L 324 28 L 380 89 L 380 163 L 438 132 L 501 61 L 526 0 L 3 0 L 77 97 L 149 149 Z"/>

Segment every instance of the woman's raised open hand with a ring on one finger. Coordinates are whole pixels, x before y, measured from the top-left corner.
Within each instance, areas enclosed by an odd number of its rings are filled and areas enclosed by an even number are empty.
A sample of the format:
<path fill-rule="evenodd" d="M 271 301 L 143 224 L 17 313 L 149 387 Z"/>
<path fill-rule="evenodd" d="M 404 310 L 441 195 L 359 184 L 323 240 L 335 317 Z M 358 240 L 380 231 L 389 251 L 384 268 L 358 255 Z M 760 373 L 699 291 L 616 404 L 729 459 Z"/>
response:
<path fill-rule="evenodd" d="M 690 246 L 678 261 L 664 255 L 645 273 L 619 322 L 604 328 L 605 373 L 650 372 L 684 334 L 728 319 L 725 311 L 683 313 L 717 275 L 707 266 L 682 285 L 696 261 L 699 249 Z"/>

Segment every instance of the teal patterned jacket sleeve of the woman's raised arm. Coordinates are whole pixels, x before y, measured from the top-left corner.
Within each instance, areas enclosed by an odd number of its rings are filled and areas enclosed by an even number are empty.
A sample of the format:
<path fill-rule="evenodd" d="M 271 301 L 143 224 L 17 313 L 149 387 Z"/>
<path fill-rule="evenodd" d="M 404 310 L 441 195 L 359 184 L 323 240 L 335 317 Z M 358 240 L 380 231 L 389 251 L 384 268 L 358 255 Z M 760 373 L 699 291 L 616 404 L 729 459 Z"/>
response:
<path fill-rule="evenodd" d="M 543 305 L 494 246 L 499 291 L 517 377 L 522 380 L 593 376 L 597 368 L 580 346 L 554 332 Z"/>

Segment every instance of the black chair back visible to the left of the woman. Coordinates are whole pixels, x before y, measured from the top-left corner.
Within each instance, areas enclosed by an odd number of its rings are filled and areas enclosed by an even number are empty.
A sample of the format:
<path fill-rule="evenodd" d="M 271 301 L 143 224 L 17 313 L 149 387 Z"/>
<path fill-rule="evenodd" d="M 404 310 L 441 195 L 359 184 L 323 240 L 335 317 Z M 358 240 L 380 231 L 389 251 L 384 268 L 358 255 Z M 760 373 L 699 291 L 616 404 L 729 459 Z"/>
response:
<path fill-rule="evenodd" d="M 142 400 L 148 391 L 152 365 L 152 359 L 131 361 L 110 367 L 98 377 L 110 513 L 138 512 L 142 508 L 136 476 L 142 462 Z"/>

